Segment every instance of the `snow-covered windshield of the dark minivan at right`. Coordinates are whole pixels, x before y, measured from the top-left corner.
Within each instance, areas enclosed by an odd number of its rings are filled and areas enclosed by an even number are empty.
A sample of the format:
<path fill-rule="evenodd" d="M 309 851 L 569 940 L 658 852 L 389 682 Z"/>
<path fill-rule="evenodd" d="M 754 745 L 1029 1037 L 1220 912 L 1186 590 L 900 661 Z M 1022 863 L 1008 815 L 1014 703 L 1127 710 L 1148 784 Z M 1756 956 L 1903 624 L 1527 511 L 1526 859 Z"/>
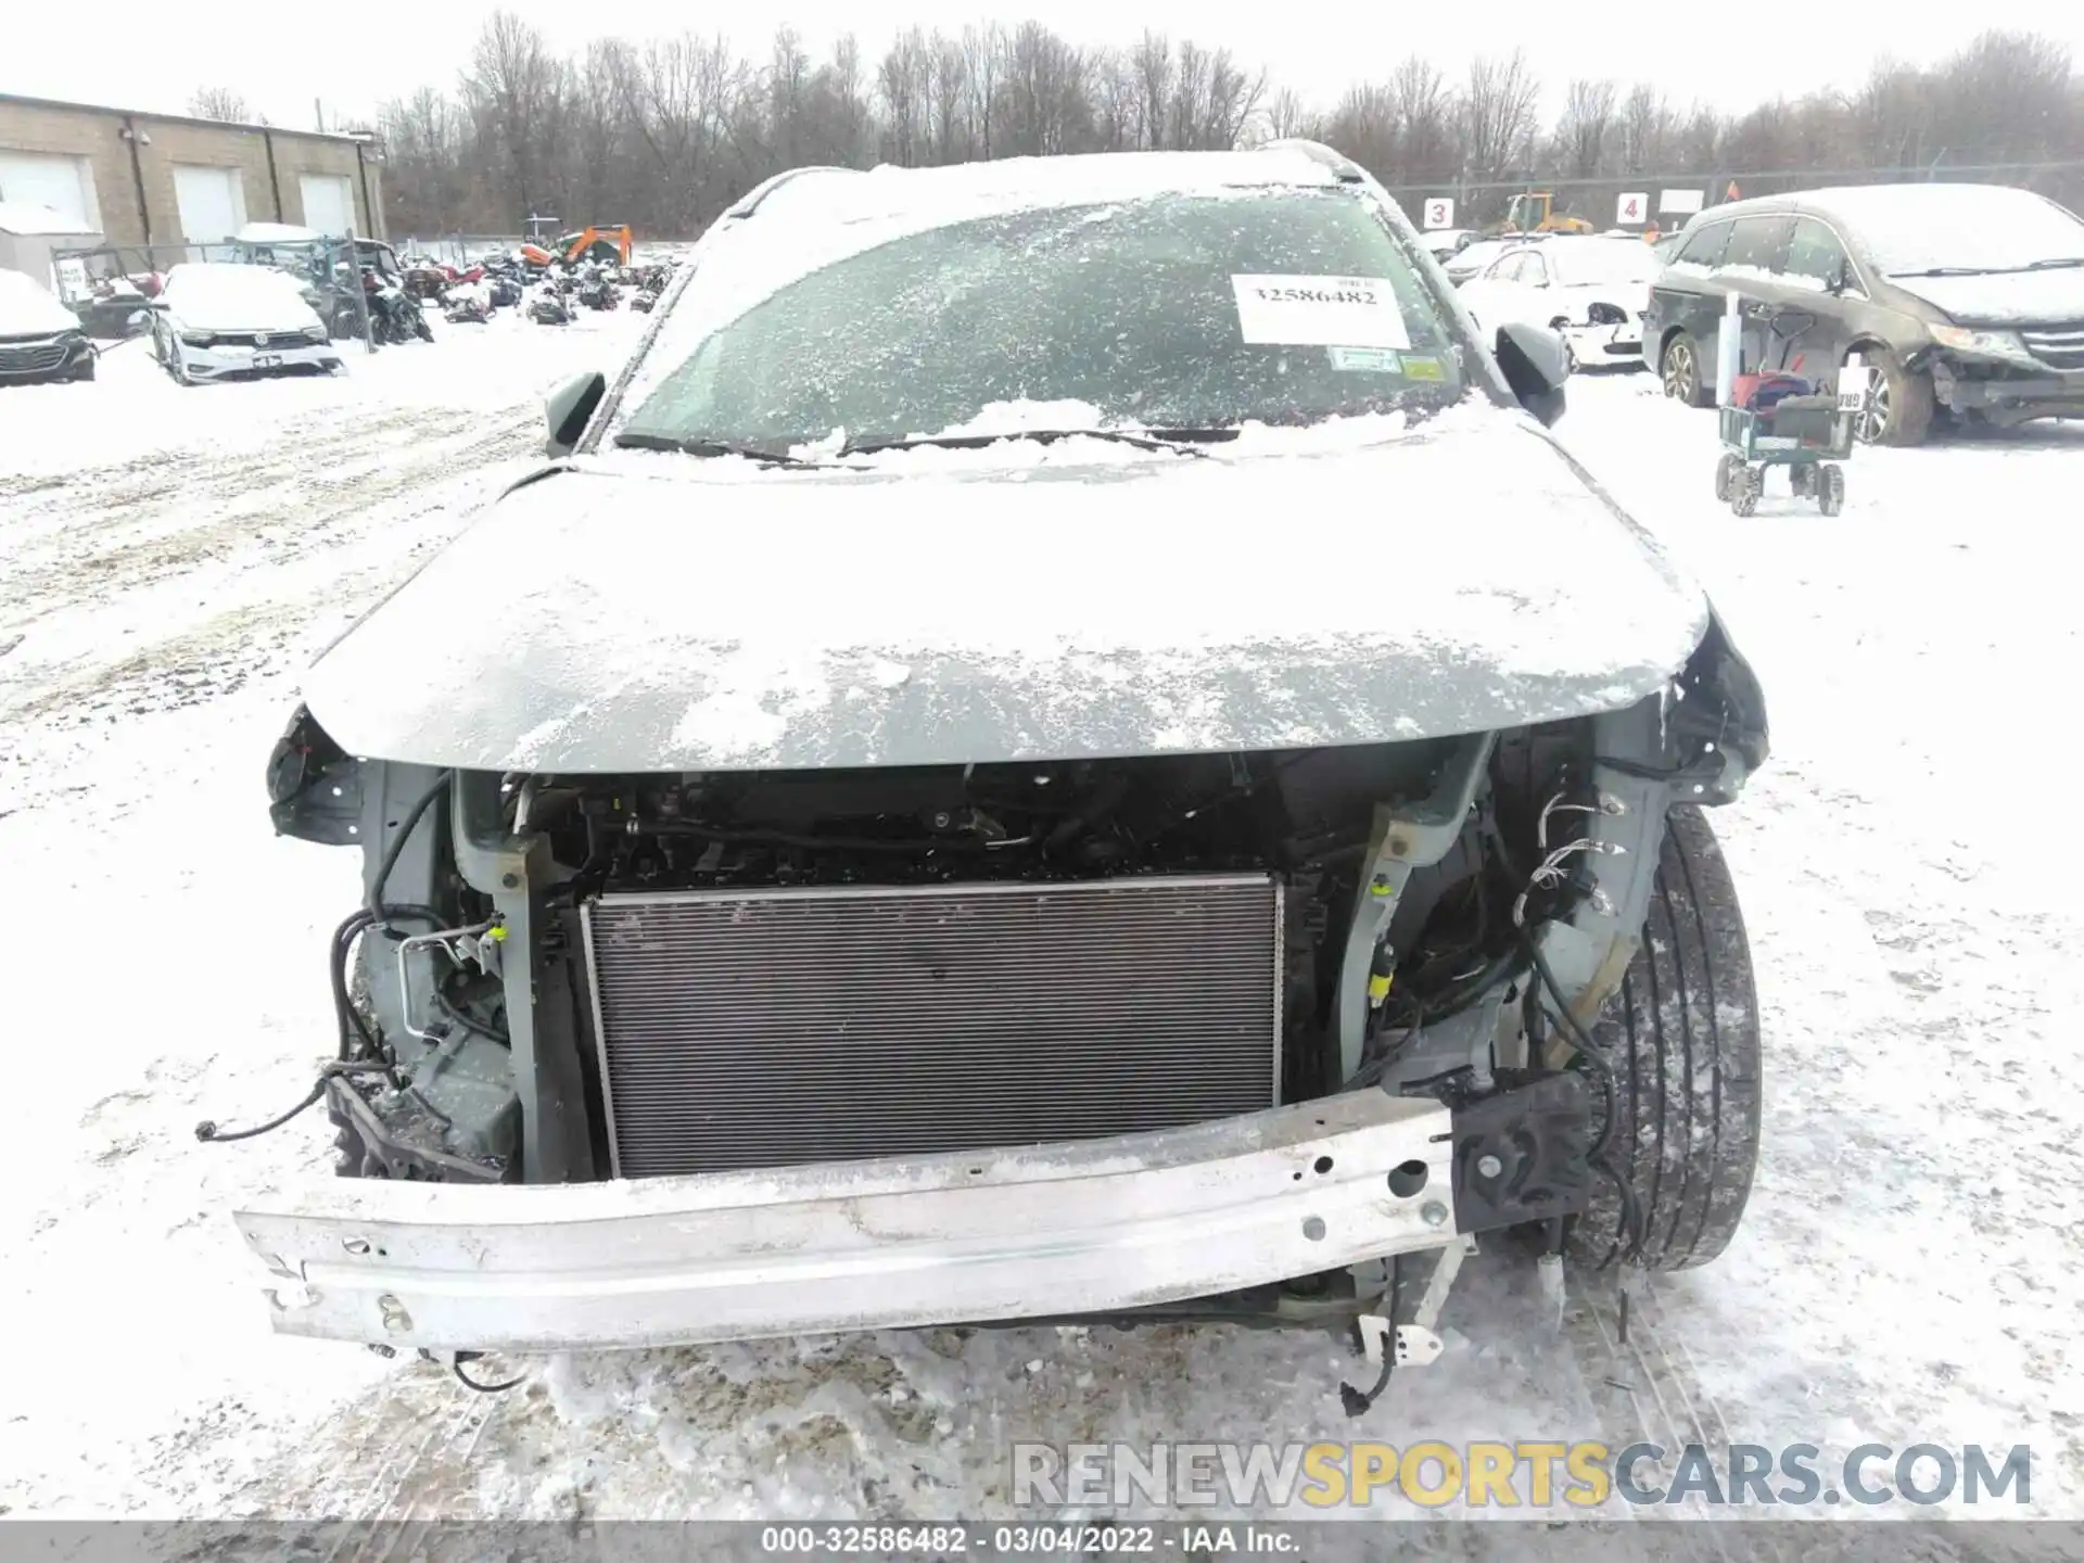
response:
<path fill-rule="evenodd" d="M 1828 210 L 1853 227 L 1890 277 L 2084 267 L 2084 223 L 2009 185 L 1834 190 Z"/>

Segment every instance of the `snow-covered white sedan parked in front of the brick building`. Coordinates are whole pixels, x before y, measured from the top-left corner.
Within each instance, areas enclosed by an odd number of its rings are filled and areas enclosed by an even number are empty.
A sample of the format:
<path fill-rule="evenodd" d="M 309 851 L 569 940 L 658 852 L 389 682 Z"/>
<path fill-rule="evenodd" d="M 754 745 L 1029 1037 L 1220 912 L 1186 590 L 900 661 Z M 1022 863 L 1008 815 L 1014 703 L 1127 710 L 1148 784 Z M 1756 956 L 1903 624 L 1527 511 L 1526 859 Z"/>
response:
<path fill-rule="evenodd" d="M 167 273 L 152 300 L 152 356 L 183 386 L 346 367 L 292 275 L 223 260 Z"/>

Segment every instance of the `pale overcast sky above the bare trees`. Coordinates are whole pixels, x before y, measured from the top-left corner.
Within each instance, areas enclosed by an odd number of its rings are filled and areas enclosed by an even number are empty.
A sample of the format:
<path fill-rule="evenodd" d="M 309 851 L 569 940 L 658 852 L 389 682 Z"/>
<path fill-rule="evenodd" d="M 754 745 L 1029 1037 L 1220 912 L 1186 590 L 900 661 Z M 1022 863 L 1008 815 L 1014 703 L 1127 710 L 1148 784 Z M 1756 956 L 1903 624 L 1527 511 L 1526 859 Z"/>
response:
<path fill-rule="evenodd" d="M 1292 85 L 1313 102 L 1332 102 L 1357 79 L 1384 75 L 1409 52 L 1423 52 L 1457 75 L 1473 54 L 1509 52 L 1517 44 L 1548 88 L 1550 113 L 1563 81 L 1576 75 L 1651 77 L 1680 104 L 1701 98 L 1719 108 L 1744 108 L 1776 92 L 1801 96 L 1853 85 L 1882 44 L 1899 58 L 1932 63 L 1984 27 L 2046 33 L 2084 65 L 2080 0 L 1994 0 L 1988 10 L 1934 6 L 1921 17 L 1871 4 L 1698 10 L 1669 0 L 1657 6 L 1450 0 L 1438 8 L 1382 0 L 1330 6 L 1050 0 L 998 10 L 979 0 L 911 0 L 904 6 L 777 0 L 771 10 L 644 6 L 613 23 L 598 19 L 625 8 L 573 0 L 508 0 L 506 8 L 561 48 L 584 48 L 604 33 L 644 38 L 690 27 L 721 31 L 746 52 L 765 54 L 773 25 L 790 21 L 813 50 L 850 27 L 871 58 L 911 23 L 957 31 L 992 15 L 1042 17 L 1080 44 L 1125 44 L 1150 27 L 1227 46 L 1263 63 L 1275 85 Z M 17 0 L 0 48 L 0 92 L 181 113 L 194 88 L 223 85 L 277 125 L 311 127 L 319 100 L 331 129 L 338 121 L 369 117 L 383 98 L 452 85 L 490 10 L 473 4 L 333 6 L 329 17 L 327 8 L 296 0 L 175 0 L 171 6 L 167 0 L 100 0 L 88 10 Z M 763 19 L 727 21 L 746 15 Z M 169 25 L 175 17 L 179 25 Z M 1878 42 L 1878 31 L 1888 38 Z"/>

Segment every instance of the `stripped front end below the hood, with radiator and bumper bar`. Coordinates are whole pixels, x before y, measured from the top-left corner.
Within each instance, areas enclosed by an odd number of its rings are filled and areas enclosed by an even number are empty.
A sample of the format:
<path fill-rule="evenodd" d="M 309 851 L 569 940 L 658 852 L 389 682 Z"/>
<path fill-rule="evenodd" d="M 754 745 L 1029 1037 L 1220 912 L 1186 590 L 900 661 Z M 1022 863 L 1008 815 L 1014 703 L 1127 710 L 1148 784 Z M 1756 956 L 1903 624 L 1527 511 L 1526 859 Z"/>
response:
<path fill-rule="evenodd" d="M 1573 1038 L 1765 750 L 1713 619 L 1626 709 L 1392 744 L 494 773 L 300 711 L 354 1182 L 240 1227 L 277 1330 L 427 1350 L 1367 1313 L 1615 1177 Z"/>

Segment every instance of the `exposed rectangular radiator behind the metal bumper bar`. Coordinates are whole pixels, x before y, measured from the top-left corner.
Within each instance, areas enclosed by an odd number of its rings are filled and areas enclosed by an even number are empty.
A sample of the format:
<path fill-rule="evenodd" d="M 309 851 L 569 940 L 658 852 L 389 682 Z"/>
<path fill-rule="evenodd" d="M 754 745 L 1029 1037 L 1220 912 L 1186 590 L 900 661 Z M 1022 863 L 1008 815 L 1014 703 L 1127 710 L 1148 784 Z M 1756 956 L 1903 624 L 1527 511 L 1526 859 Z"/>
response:
<path fill-rule="evenodd" d="M 619 1177 L 1177 1127 L 1280 1094 L 1267 875 L 584 907 Z"/>

